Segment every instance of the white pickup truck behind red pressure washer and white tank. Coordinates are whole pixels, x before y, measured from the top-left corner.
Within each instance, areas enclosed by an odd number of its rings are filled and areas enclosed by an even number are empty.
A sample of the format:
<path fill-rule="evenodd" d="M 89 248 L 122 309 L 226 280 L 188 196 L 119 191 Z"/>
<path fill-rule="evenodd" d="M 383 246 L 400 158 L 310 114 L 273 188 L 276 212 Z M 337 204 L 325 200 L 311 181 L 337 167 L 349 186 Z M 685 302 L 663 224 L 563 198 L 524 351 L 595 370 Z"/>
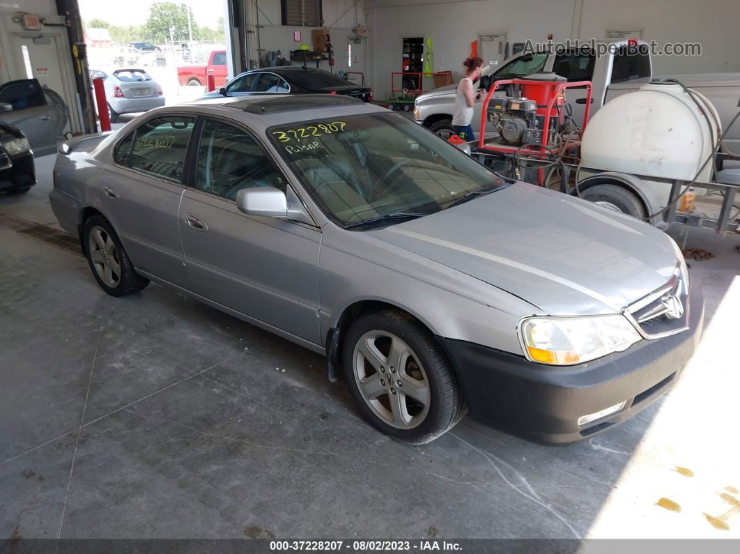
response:
<path fill-rule="evenodd" d="M 588 50 L 578 50 L 562 55 L 554 53 L 523 54 L 508 58 L 500 66 L 487 66 L 482 71 L 479 86 L 491 87 L 493 81 L 520 78 L 538 72 L 555 72 L 568 81 L 591 81 L 591 114 L 616 96 L 633 92 L 653 78 L 653 64 L 649 49 L 637 49 L 628 41 L 614 43 L 611 53 L 598 57 Z M 639 41 L 638 44 L 646 44 Z M 641 53 L 645 50 L 645 53 Z M 740 73 L 707 73 L 704 75 L 661 75 L 659 78 L 676 78 L 687 87 L 696 89 L 716 107 L 724 129 L 737 113 L 740 98 Z M 414 118 L 442 138 L 452 134 L 452 109 L 457 85 L 441 87 L 420 95 L 414 104 Z M 573 108 L 576 124 L 583 121 L 586 89 L 566 91 L 568 104 Z M 472 126 L 480 132 L 481 103 L 476 104 Z M 494 129 L 488 131 L 495 134 Z M 487 132 L 488 134 L 488 132 Z M 740 125 L 733 126 L 725 137 L 727 147 L 740 151 Z M 734 146 L 734 147 L 733 147 Z"/>

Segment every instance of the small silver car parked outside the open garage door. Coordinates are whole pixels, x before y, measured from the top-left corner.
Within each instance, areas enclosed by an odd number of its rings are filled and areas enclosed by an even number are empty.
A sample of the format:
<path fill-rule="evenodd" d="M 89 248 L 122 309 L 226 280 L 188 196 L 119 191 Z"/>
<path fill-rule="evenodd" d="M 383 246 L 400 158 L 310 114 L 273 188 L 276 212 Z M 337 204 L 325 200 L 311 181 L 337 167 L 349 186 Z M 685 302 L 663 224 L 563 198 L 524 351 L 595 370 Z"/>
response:
<path fill-rule="evenodd" d="M 124 113 L 147 112 L 164 106 L 164 93 L 149 73 L 140 69 L 121 69 L 108 74 L 90 70 L 90 78 L 104 79 L 105 98 L 110 122 Z"/>

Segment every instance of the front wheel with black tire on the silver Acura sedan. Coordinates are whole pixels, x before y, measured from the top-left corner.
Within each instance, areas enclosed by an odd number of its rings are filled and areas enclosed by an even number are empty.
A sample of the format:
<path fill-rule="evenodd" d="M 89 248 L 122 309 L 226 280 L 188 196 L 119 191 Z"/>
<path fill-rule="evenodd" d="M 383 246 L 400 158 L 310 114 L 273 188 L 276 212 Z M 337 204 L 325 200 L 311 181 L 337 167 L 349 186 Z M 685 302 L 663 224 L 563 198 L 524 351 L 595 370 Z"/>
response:
<path fill-rule="evenodd" d="M 343 340 L 342 359 L 360 413 L 400 442 L 431 442 L 465 415 L 450 363 L 431 333 L 407 314 L 358 317 Z"/>

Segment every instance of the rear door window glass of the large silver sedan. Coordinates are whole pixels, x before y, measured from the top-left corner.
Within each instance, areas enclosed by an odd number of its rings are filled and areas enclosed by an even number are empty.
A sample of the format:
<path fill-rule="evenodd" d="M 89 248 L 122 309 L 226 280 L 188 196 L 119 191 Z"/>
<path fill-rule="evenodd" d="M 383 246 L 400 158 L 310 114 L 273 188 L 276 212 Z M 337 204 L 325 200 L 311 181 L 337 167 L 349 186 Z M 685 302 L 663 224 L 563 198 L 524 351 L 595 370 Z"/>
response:
<path fill-rule="evenodd" d="M 138 127 L 131 149 L 131 169 L 182 183 L 193 126 L 195 118 L 164 115 Z"/>

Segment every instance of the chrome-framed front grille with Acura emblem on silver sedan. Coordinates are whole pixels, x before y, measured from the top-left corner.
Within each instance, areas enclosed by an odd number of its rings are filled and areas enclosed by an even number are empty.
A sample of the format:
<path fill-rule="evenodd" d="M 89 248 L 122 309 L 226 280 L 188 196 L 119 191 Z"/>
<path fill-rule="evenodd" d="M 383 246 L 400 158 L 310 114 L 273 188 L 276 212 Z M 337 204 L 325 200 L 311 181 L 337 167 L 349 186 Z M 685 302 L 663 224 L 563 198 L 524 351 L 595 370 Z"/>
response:
<path fill-rule="evenodd" d="M 664 286 L 625 308 L 625 315 L 645 339 L 659 339 L 688 328 L 688 287 L 680 268 Z"/>

